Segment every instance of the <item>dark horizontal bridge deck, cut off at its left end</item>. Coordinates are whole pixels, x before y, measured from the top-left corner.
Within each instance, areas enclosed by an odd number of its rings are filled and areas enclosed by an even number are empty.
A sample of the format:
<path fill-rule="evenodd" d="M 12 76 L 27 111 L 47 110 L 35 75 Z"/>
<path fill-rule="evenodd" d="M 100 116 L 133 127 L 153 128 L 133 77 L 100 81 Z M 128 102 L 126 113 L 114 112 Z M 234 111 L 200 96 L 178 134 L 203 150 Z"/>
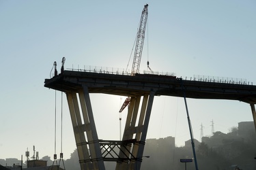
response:
<path fill-rule="evenodd" d="M 169 75 L 130 76 L 65 70 L 44 82 L 45 87 L 63 92 L 74 92 L 85 85 L 90 93 L 136 96 L 154 90 L 156 95 L 173 97 L 183 97 L 182 84 L 188 98 L 229 99 L 256 103 L 256 86 L 253 85 L 182 80 Z"/>

